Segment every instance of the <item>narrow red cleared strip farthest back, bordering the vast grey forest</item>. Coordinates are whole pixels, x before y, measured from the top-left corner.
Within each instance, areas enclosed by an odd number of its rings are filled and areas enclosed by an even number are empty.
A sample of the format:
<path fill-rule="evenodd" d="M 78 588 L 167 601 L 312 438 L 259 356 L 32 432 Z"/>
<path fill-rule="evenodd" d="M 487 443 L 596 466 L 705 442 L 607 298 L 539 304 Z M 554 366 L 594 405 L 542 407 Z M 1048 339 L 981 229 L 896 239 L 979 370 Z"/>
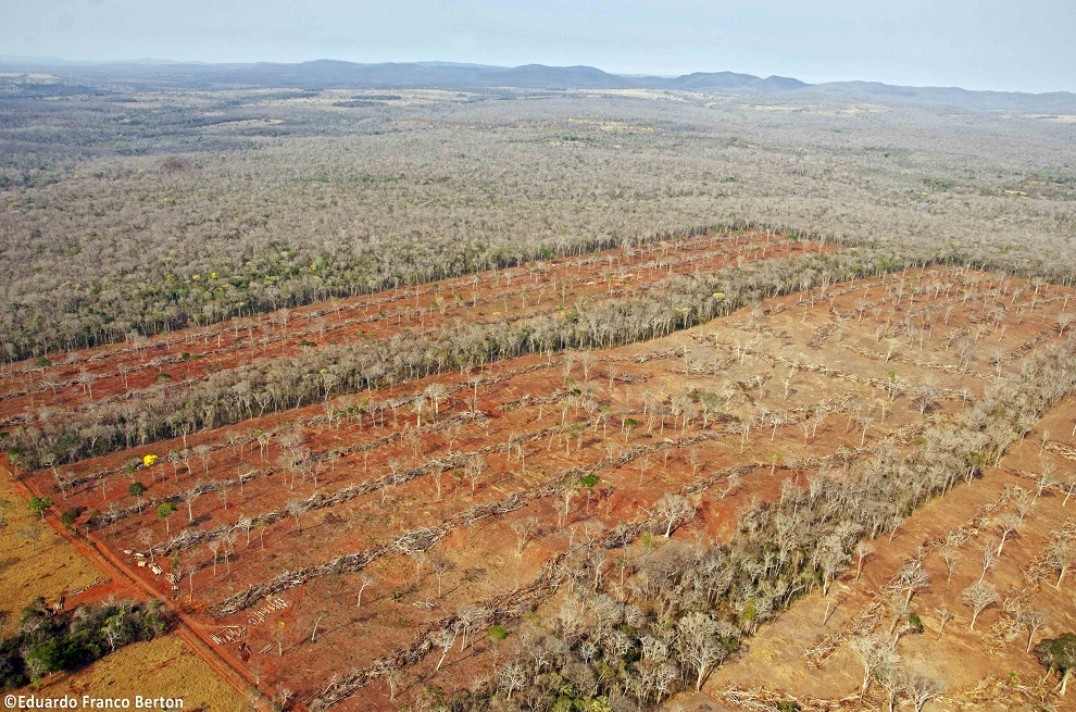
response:
<path fill-rule="evenodd" d="M 54 354 L 54 365 L 45 369 L 37 360 L 16 362 L 0 372 L 0 423 L 34 422 L 40 409 L 75 409 L 318 346 L 431 329 L 458 318 L 515 321 L 586 298 L 629 297 L 672 274 L 818 249 L 765 233 L 703 236 L 280 310 L 155 336 L 141 348 L 125 342 Z"/>

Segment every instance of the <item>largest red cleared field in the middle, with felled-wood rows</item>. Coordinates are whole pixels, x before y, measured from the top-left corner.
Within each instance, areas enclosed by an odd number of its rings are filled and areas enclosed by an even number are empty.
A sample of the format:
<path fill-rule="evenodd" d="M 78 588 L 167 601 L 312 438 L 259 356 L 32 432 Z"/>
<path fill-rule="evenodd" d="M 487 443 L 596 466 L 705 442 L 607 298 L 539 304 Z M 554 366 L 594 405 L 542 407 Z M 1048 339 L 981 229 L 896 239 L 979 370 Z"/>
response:
<path fill-rule="evenodd" d="M 581 288 L 586 268 L 571 267 L 561 278 L 571 276 Z M 101 555 L 171 600 L 189 628 L 247 679 L 257 673 L 263 690 L 286 686 L 309 703 L 335 673 L 367 669 L 468 605 L 527 589 L 573 540 L 648 520 L 667 492 L 687 494 L 696 508 L 695 520 L 673 538 L 704 544 L 728 537 L 739 508 L 774 499 L 789 477 L 840 471 L 883 441 L 906 447 L 919 428 L 959 413 L 998 371 L 1016 367 L 1026 342 L 1062 338 L 1054 323 L 1071 292 L 1043 287 L 1033 293 L 1027 287 L 1014 296 L 1014 286 L 943 268 L 828 286 L 663 339 L 596 352 L 593 363 L 566 354 L 527 357 L 487 365 L 476 380 L 455 373 L 403 384 L 364 396 L 373 414 L 358 420 L 329 422 L 316 407 L 201 434 L 187 447 L 208 445 L 210 451 L 204 462 L 191 459 L 189 471 L 162 460 L 121 473 L 133 455 L 183 448 L 162 442 L 65 469 L 78 483 L 66 499 L 54 491 L 51 472 L 27 477 L 36 491 L 51 492 L 58 508 L 85 508 L 83 522 L 95 510 L 114 511 L 115 523 L 89 530 Z M 998 312 L 1002 300 L 1006 307 Z M 968 353 L 964 338 L 978 348 Z M 990 362 L 994 350 L 997 365 Z M 890 398 L 893 376 L 905 386 Z M 436 415 L 427 411 L 418 424 L 411 400 L 435 382 L 449 395 Z M 925 413 L 913 398 L 923 383 L 936 385 Z M 724 404 L 703 413 L 698 398 L 684 397 L 703 391 L 720 395 Z M 358 402 L 339 399 L 338 410 Z M 298 442 L 288 441 L 292 429 Z M 273 437 L 261 447 L 236 439 L 255 432 Z M 281 455 L 297 448 L 310 451 L 313 471 L 284 463 Z M 479 454 L 487 467 L 472 491 L 466 463 Z M 233 485 L 226 498 L 204 494 L 192 500 L 189 515 L 177 501 L 166 534 L 157 515 L 165 498 L 240 473 L 253 473 L 241 491 Z M 599 477 L 592 492 L 579 482 L 585 474 Z M 128 479 L 148 486 L 140 511 L 126 494 Z M 340 495 L 348 491 L 353 496 Z M 303 499 L 297 523 L 288 503 Z M 565 501 L 566 512 L 559 512 Z M 229 529 L 241 516 L 265 522 L 250 530 L 249 544 L 246 530 Z M 537 528 L 520 551 L 513 526 L 529 517 Z M 155 554 L 166 573 L 183 572 L 176 590 L 123 553 L 216 529 L 225 538 L 214 537 L 213 547 L 205 539 Z M 634 563 L 651 555 L 663 534 L 661 527 L 641 537 L 635 532 L 606 551 L 599 572 L 620 582 L 616 561 L 623 559 L 629 579 Z M 408 544 L 416 537 L 426 544 Z M 364 566 L 331 565 L 356 552 Z M 440 562 L 447 563 L 438 578 Z M 372 583 L 359 607 L 363 574 Z M 248 587 L 273 580 L 273 598 L 214 614 Z M 540 616 L 558 605 L 558 596 L 539 607 Z M 284 603 L 270 604 L 277 599 Z M 228 642 L 212 644 L 213 634 Z M 405 666 L 392 679 L 396 701 L 389 702 L 390 686 L 380 679 L 340 709 L 392 709 L 423 688 L 455 689 L 488 675 L 508 650 L 492 648 L 483 634 L 475 632 L 474 647 L 461 649 L 456 641 L 439 671 L 439 649 Z M 253 652 L 247 662 L 240 641 Z"/>

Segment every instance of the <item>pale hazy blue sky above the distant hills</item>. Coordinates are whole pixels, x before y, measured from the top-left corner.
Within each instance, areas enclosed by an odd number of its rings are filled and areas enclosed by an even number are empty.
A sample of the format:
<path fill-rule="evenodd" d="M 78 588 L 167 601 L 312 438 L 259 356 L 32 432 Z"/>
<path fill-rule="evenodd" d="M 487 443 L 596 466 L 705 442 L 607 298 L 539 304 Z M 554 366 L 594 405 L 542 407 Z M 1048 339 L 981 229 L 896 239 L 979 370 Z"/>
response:
<path fill-rule="evenodd" d="M 0 54 L 590 64 L 1076 91 L 1073 0 L 0 0 Z"/>

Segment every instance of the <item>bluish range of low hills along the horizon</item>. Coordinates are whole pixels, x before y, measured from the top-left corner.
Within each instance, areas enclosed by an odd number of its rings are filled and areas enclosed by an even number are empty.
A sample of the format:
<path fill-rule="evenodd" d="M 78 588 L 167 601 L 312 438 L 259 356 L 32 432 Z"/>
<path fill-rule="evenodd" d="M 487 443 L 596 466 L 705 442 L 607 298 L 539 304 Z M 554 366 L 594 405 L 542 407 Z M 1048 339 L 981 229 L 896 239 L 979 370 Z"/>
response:
<path fill-rule="evenodd" d="M 74 80 L 129 83 L 138 88 L 340 89 L 660 89 L 756 95 L 816 95 L 888 102 L 952 105 L 973 110 L 1076 113 L 1076 95 L 1065 91 L 1022 93 L 971 91 L 958 87 L 903 87 L 877 82 L 806 84 L 792 77 L 758 77 L 735 72 L 695 72 L 677 77 L 626 76 L 592 66 L 526 64 L 504 67 L 455 62 L 381 62 L 359 64 L 315 60 L 296 64 L 205 64 L 138 60 L 71 62 L 55 58 L 0 55 L 0 71 L 49 72 Z"/>

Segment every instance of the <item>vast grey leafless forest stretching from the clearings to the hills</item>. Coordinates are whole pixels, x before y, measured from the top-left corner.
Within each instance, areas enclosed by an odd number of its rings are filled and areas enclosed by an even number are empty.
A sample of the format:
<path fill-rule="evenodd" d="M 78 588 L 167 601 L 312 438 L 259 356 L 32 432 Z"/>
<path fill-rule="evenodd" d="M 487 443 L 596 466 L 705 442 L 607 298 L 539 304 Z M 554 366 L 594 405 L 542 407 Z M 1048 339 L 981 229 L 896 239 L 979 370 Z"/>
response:
<path fill-rule="evenodd" d="M 722 224 L 959 245 L 1056 280 L 1072 263 L 1076 151 L 1050 117 L 810 95 L 136 93 L 11 76 L 0 97 L 8 359 Z"/>

